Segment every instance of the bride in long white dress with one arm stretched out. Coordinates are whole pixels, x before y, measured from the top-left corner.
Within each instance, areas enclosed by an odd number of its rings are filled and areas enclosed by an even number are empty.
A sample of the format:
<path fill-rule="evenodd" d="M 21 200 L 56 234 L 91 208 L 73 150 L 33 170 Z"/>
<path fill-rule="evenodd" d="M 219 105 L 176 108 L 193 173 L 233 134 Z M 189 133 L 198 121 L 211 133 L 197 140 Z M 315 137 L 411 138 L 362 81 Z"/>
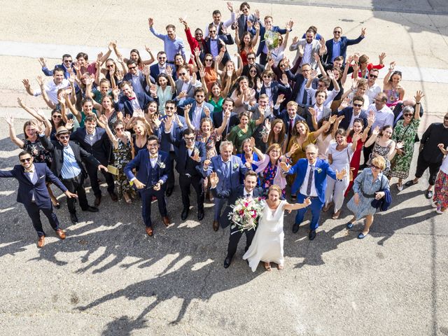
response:
<path fill-rule="evenodd" d="M 258 221 L 258 228 L 253 237 L 251 246 L 243 255 L 248 260 L 252 272 L 258 267 L 258 263 L 265 262 L 267 271 L 271 270 L 270 262 L 275 262 L 278 269 L 283 269 L 283 215 L 285 210 L 297 210 L 309 206 L 311 200 L 307 198 L 303 204 L 289 204 L 281 201 L 281 188 L 273 185 L 267 190 L 267 200 L 263 201 L 265 209 Z"/>

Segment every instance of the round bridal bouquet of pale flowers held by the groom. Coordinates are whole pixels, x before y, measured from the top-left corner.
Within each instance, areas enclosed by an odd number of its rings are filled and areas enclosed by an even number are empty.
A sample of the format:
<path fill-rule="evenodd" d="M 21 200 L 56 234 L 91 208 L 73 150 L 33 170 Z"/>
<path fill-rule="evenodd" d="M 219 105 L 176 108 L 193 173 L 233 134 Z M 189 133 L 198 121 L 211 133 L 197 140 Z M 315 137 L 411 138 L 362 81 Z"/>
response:
<path fill-rule="evenodd" d="M 258 218 L 263 211 L 261 201 L 261 197 L 255 197 L 252 200 L 240 198 L 235 205 L 230 206 L 233 210 L 229 213 L 229 219 L 233 223 L 231 228 L 238 228 L 239 231 L 255 230 Z"/>

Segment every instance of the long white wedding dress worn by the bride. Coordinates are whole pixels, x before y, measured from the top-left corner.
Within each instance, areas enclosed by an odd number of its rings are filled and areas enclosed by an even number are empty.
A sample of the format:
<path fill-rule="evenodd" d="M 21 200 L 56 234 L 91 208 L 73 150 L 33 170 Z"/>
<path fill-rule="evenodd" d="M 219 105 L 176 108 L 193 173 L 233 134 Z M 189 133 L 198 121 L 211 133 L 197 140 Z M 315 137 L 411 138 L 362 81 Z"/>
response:
<path fill-rule="evenodd" d="M 252 244 L 243 255 L 248 260 L 252 272 L 258 267 L 260 261 L 275 262 L 283 265 L 283 206 L 286 201 L 281 201 L 276 210 L 269 209 L 263 202 L 262 215 L 258 221 L 258 228 L 253 237 Z"/>

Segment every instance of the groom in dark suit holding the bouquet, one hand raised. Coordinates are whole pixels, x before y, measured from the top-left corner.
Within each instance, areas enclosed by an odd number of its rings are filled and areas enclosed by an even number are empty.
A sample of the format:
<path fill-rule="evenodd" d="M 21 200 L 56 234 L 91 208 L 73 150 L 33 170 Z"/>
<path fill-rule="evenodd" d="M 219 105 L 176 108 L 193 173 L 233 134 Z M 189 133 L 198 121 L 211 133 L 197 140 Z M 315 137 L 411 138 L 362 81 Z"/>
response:
<path fill-rule="evenodd" d="M 220 218 L 221 228 L 227 228 L 231 222 L 228 218 L 228 214 L 232 213 L 232 205 L 235 205 L 235 202 L 239 198 L 246 197 L 250 200 L 253 197 L 260 197 L 262 195 L 262 189 L 257 188 L 257 179 L 258 176 L 252 170 L 246 172 L 244 175 L 244 185 L 237 186 L 236 188 L 228 189 L 228 190 L 217 190 L 216 186 L 218 186 L 219 178 L 218 174 L 211 173 L 210 175 L 210 183 L 211 183 L 211 193 L 214 197 L 217 198 L 228 198 L 228 206 L 225 208 L 223 212 L 223 216 Z M 239 231 L 238 228 L 230 228 L 230 238 L 229 238 L 229 246 L 227 249 L 227 256 L 224 260 L 224 268 L 230 266 L 230 262 L 232 262 L 233 255 L 237 251 L 237 246 L 239 239 L 243 235 L 243 232 L 246 234 L 246 248 L 244 251 L 247 251 L 249 246 L 251 246 L 253 236 L 255 235 L 255 230 L 244 230 Z"/>

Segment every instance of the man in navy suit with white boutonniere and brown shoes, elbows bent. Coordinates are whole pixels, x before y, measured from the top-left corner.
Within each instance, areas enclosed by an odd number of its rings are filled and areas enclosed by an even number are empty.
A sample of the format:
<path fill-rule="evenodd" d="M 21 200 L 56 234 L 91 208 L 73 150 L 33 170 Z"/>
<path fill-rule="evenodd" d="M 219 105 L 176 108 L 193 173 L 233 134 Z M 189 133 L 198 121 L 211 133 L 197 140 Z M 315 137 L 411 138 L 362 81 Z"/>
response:
<path fill-rule="evenodd" d="M 137 177 L 132 169 L 138 169 Z M 137 156 L 125 167 L 125 174 L 141 195 L 142 209 L 146 233 L 153 235 L 153 223 L 151 221 L 151 200 L 155 196 L 158 200 L 159 212 L 165 226 L 169 225 L 167 202 L 165 200 L 166 182 L 172 166 L 169 155 L 159 151 L 159 140 L 155 135 L 150 135 L 146 141 L 146 149 L 139 151 Z"/>

